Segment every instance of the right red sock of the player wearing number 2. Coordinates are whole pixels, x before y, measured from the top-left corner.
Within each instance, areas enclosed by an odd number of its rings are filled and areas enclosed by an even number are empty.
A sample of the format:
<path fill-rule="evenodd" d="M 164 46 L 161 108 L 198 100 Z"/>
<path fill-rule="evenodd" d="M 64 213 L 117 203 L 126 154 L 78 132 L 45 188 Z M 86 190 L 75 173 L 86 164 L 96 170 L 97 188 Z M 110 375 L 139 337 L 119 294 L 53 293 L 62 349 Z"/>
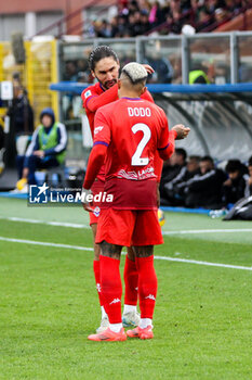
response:
<path fill-rule="evenodd" d="M 155 302 L 158 290 L 158 280 L 154 268 L 154 255 L 149 257 L 136 257 L 138 269 L 138 293 L 141 318 L 154 316 Z"/>

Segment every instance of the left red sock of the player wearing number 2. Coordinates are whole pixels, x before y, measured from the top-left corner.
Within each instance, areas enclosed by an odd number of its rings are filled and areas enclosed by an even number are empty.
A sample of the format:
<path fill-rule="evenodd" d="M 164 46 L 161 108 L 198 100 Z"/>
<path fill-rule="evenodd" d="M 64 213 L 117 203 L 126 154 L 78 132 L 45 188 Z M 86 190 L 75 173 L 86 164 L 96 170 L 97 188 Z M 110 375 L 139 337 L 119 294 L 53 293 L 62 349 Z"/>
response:
<path fill-rule="evenodd" d="M 120 261 L 107 256 L 100 256 L 101 283 L 104 308 L 109 324 L 121 322 L 122 284 L 120 276 Z"/>

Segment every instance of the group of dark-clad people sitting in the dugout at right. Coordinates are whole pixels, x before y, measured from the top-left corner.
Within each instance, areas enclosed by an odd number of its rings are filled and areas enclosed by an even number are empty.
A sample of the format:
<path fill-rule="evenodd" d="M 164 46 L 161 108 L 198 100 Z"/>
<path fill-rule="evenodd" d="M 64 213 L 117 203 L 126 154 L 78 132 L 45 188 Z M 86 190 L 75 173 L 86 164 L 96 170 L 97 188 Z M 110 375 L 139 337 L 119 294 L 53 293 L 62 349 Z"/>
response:
<path fill-rule="evenodd" d="M 161 204 L 169 206 L 229 208 L 252 195 L 252 156 L 247 165 L 229 160 L 215 165 L 211 156 L 187 157 L 177 148 L 164 163 L 160 182 Z"/>

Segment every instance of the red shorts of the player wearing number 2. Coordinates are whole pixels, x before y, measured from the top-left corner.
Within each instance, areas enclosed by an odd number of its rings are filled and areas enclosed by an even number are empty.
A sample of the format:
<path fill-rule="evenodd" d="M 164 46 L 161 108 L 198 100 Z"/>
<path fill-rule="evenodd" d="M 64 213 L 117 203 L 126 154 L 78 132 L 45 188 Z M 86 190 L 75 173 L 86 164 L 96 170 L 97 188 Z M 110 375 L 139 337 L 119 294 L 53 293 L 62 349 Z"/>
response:
<path fill-rule="evenodd" d="M 162 244 L 157 211 L 101 210 L 95 243 L 103 240 L 127 246 Z"/>

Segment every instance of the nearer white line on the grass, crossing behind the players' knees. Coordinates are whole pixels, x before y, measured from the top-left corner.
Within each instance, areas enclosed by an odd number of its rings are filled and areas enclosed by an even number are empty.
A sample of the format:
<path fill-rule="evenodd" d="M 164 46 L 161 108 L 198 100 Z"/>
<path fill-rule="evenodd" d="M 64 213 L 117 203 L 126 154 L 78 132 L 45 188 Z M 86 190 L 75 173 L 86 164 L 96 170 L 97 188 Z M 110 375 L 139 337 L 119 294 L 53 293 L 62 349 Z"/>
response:
<path fill-rule="evenodd" d="M 23 240 L 23 239 L 12 239 L 0 237 L 1 241 L 9 241 L 14 243 L 24 243 L 24 244 L 34 244 L 34 245 L 45 245 L 45 246 L 56 246 L 56 248 L 66 248 L 70 250 L 78 251 L 93 251 L 92 248 L 80 246 L 80 245 L 69 245 L 69 244 L 58 244 L 58 243 L 49 243 L 43 241 L 34 241 L 34 240 Z M 175 253 L 180 254 L 180 253 Z M 198 264 L 198 265 L 207 265 L 207 266 L 216 266 L 223 268 L 231 268 L 231 269 L 243 269 L 243 270 L 252 270 L 252 267 L 247 266 L 238 266 L 238 265 L 229 265 L 229 264 L 218 264 L 218 263 L 208 263 L 208 262 L 199 262 L 196 259 L 186 259 L 186 258 L 176 258 L 176 257 L 168 257 L 168 256 L 155 256 L 155 259 L 163 259 L 168 262 L 177 262 L 177 263 L 187 263 L 187 264 Z"/>

